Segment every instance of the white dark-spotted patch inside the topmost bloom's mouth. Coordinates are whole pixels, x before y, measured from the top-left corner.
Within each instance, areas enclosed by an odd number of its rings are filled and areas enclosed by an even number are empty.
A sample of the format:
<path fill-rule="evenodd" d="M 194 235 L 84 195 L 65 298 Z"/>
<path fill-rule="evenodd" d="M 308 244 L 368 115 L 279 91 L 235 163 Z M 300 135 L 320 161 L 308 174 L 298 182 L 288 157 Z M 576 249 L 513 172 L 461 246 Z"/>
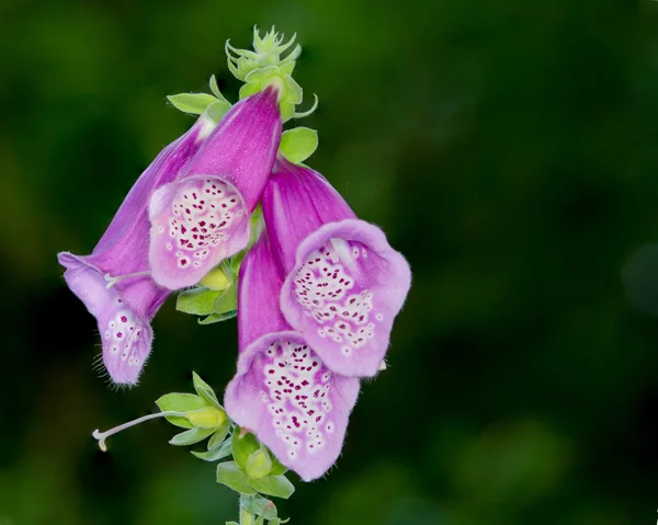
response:
<path fill-rule="evenodd" d="M 191 179 L 171 203 L 170 241 L 180 269 L 200 267 L 211 249 L 226 241 L 237 217 L 243 215 L 240 197 L 217 179 Z M 159 233 L 164 233 L 161 227 Z"/>

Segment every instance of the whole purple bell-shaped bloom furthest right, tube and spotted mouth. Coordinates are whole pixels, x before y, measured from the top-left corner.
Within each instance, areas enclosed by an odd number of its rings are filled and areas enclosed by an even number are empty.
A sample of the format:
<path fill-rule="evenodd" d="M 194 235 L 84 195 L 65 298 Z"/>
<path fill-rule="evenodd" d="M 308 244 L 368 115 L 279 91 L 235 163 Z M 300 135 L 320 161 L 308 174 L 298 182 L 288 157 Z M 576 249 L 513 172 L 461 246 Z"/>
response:
<path fill-rule="evenodd" d="M 286 321 L 330 369 L 374 376 L 409 292 L 409 264 L 322 175 L 282 157 L 262 206 L 285 275 Z"/>

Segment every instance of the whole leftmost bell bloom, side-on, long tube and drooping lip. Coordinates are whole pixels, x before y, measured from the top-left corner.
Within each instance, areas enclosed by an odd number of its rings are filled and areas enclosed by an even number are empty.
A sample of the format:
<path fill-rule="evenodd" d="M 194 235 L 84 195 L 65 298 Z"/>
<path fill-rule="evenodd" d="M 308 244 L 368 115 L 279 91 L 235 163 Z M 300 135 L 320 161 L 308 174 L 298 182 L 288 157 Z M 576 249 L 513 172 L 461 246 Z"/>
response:
<path fill-rule="evenodd" d="M 91 255 L 58 254 L 64 278 L 97 318 L 103 363 L 114 383 L 137 383 L 151 349 L 150 321 L 169 290 L 148 275 L 148 203 L 180 176 L 215 123 L 202 115 L 139 176 Z"/>

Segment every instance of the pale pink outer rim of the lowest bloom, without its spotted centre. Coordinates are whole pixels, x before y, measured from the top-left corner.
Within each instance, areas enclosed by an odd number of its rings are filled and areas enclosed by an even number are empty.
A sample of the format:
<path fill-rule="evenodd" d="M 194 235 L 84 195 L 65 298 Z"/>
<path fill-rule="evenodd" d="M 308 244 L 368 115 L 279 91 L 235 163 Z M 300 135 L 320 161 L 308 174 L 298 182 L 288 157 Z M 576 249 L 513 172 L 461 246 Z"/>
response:
<path fill-rule="evenodd" d="M 252 431 L 283 465 L 297 472 L 304 481 L 311 481 L 325 475 L 340 456 L 349 415 L 359 397 L 360 380 L 356 377 L 332 375 L 329 397 L 333 404 L 334 427 L 331 434 L 325 435 L 327 443 L 321 452 L 309 454 L 302 449 L 295 458 L 291 458 L 285 444 L 275 433 L 268 404 L 261 398 L 261 392 L 266 387 L 262 381 L 250 377 L 251 367 L 259 354 L 265 352 L 271 344 L 282 341 L 305 344 L 302 334 L 291 330 L 268 333 L 253 341 L 240 354 L 237 374 L 226 387 L 224 406 L 230 419 Z"/>

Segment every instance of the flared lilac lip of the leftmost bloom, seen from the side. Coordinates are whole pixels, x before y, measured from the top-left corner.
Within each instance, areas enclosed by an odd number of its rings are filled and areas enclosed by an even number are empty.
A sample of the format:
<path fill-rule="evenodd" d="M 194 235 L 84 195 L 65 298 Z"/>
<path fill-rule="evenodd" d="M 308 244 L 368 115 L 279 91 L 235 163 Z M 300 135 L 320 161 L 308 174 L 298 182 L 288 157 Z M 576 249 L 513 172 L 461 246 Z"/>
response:
<path fill-rule="evenodd" d="M 118 385 L 136 385 L 151 351 L 150 318 L 169 292 L 148 277 L 107 288 L 103 272 L 91 259 L 68 252 L 58 254 L 59 263 L 66 267 L 64 278 L 69 288 L 97 319 L 103 364 L 110 377 Z M 123 324 L 122 319 L 125 319 Z M 110 326 L 116 326 L 116 331 Z"/>

